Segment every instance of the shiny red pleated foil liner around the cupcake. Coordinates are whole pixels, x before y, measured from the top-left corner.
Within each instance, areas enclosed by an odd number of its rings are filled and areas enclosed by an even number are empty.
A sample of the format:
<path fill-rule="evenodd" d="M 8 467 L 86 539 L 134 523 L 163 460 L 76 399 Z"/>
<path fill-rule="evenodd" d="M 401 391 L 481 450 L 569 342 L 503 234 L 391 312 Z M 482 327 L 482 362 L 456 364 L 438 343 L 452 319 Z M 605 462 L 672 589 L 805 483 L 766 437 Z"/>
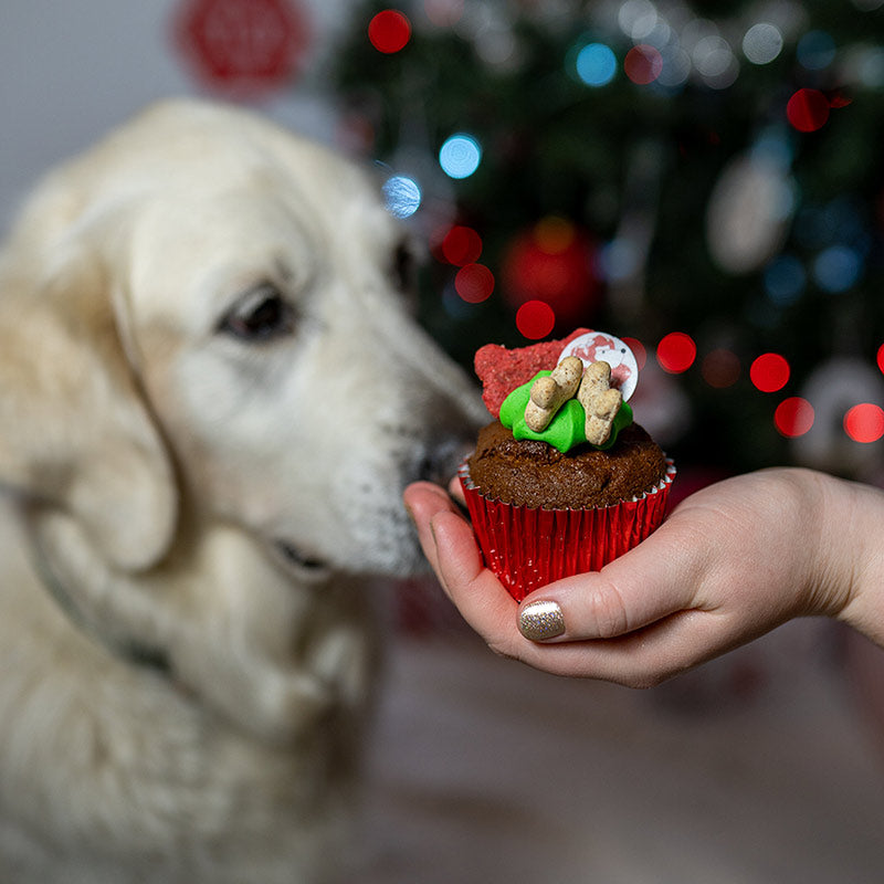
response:
<path fill-rule="evenodd" d="M 675 465 L 667 460 L 665 477 L 642 497 L 593 509 L 532 508 L 485 497 L 465 462 L 457 477 L 485 565 L 522 601 L 554 580 L 600 570 L 656 530 Z"/>

